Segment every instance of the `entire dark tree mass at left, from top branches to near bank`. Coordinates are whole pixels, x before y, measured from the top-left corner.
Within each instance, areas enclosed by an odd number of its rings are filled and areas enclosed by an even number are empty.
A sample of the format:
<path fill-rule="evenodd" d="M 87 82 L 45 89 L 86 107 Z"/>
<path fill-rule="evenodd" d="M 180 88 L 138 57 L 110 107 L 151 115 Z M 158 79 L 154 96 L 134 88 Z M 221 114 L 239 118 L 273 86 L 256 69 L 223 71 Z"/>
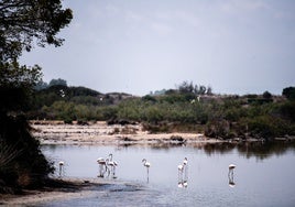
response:
<path fill-rule="evenodd" d="M 72 18 L 61 0 L 0 0 L 0 193 L 42 184 L 52 172 L 26 120 L 10 115 L 23 109 L 42 77 L 41 67 L 18 63 L 22 52 L 34 43 L 61 46 L 56 35 Z"/>

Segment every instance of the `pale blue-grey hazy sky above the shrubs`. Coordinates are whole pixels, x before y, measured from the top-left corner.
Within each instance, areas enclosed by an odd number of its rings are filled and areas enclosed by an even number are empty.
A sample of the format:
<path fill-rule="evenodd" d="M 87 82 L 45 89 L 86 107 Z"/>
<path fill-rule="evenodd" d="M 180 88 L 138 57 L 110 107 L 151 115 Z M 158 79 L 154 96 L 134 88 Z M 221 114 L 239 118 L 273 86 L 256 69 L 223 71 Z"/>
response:
<path fill-rule="evenodd" d="M 217 94 L 281 94 L 295 85 L 294 0 L 64 0 L 62 47 L 22 63 L 44 80 L 146 95 L 184 80 Z"/>

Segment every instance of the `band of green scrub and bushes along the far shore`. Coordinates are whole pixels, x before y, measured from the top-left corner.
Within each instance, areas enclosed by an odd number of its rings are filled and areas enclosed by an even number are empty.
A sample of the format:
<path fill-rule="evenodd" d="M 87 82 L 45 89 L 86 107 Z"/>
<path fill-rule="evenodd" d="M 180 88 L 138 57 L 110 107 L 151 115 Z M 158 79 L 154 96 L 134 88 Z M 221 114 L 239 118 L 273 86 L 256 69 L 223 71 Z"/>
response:
<path fill-rule="evenodd" d="M 209 87 L 208 87 L 209 88 Z M 30 119 L 66 123 L 105 120 L 142 122 L 151 132 L 201 132 L 218 139 L 272 140 L 295 135 L 295 88 L 283 96 L 214 95 L 211 88 L 184 81 L 161 95 L 134 97 L 100 94 L 84 87 L 55 85 L 34 94 Z"/>

